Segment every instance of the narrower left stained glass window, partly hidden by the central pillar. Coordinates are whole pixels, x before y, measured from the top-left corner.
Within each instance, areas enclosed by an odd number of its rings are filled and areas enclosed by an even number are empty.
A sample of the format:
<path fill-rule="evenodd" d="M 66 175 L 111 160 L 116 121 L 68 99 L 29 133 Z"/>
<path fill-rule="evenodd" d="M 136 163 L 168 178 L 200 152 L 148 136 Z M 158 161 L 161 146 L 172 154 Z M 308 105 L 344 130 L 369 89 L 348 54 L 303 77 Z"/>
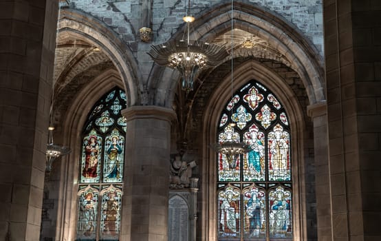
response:
<path fill-rule="evenodd" d="M 94 105 L 83 127 L 77 241 L 119 240 L 127 129 L 120 111 L 126 103 L 126 94 L 113 88 Z"/>

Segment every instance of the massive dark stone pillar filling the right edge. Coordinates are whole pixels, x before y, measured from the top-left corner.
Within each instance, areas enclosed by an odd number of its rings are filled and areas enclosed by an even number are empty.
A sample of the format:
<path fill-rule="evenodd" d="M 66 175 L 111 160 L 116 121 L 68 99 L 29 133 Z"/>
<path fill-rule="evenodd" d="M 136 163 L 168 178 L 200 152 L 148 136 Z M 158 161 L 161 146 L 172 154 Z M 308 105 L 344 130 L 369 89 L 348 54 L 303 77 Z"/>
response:
<path fill-rule="evenodd" d="M 380 1 L 324 1 L 332 240 L 381 240 Z"/>

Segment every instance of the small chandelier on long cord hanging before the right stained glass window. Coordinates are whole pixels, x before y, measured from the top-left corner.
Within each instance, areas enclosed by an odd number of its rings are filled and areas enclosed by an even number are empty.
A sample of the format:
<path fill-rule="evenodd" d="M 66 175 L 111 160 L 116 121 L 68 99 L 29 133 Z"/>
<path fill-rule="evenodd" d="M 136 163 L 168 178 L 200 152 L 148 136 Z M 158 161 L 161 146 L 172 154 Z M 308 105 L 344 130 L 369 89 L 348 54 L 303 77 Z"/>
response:
<path fill-rule="evenodd" d="M 231 98 L 233 98 L 233 0 L 232 0 L 232 29 L 231 29 Z M 231 112 L 232 112 L 231 108 Z M 232 114 L 232 113 L 231 113 Z M 232 118 L 230 117 L 230 121 Z M 250 145 L 247 145 L 245 143 L 241 143 L 239 141 L 239 136 L 237 132 L 234 131 L 235 123 L 229 123 L 226 127 L 226 132 L 224 132 L 224 140 L 221 140 L 219 143 L 215 143 L 211 147 L 215 149 L 216 152 L 224 154 L 226 156 L 226 159 L 228 160 L 229 168 L 234 169 L 236 167 L 236 160 L 240 154 L 247 153 L 250 151 Z"/>

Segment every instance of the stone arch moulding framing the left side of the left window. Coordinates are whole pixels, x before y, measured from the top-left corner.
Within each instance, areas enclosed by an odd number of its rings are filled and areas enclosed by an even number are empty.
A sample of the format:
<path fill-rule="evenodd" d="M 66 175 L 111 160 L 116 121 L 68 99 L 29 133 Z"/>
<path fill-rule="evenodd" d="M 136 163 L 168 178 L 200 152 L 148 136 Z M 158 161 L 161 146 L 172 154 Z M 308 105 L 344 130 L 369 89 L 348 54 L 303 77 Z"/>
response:
<path fill-rule="evenodd" d="M 76 231 L 76 198 L 78 184 L 78 157 L 81 153 L 81 132 L 94 104 L 113 87 L 123 89 L 120 74 L 114 69 L 100 74 L 91 85 L 86 85 L 70 105 L 63 124 L 63 140 L 72 152 L 61 161 L 58 191 L 57 240 L 74 240 Z"/>

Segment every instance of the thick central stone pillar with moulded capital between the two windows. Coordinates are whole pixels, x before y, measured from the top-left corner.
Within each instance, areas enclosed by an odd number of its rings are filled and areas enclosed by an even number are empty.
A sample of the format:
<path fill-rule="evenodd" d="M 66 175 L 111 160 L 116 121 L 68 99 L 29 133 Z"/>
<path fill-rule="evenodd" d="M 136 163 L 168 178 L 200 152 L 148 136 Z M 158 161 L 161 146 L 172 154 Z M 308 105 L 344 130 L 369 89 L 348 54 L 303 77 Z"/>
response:
<path fill-rule="evenodd" d="M 134 106 L 127 118 L 121 240 L 168 239 L 172 109 Z"/>

